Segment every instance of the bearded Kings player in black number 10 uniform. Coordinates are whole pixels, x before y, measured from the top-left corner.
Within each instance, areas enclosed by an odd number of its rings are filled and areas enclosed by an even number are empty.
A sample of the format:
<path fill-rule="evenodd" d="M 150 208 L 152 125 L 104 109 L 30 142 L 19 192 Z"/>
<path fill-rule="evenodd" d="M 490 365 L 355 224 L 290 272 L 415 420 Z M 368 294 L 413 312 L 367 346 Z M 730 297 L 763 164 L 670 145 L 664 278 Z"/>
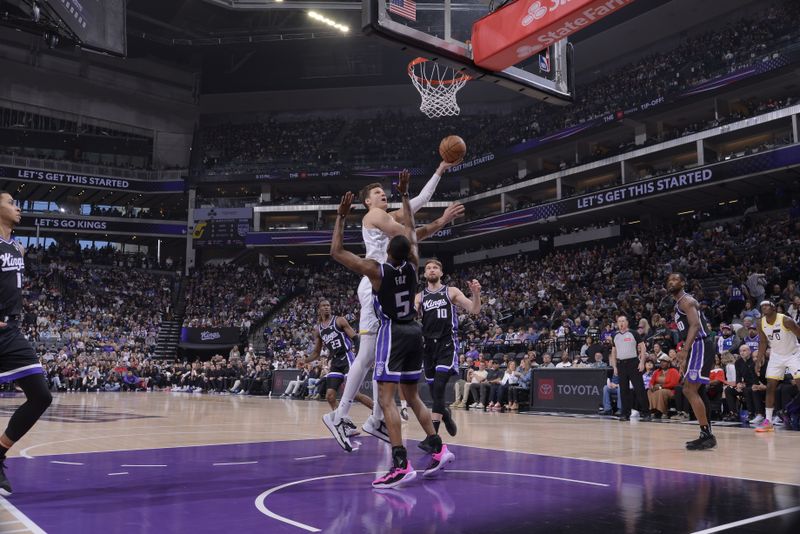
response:
<path fill-rule="evenodd" d="M 481 285 L 477 280 L 469 282 L 472 299 L 456 287 L 442 284 L 442 264 L 431 259 L 425 263 L 425 280 L 427 285 L 417 293 L 415 306 L 422 316 L 422 338 L 424 345 L 425 380 L 431 388 L 433 399 L 433 428 L 439 432 L 439 425 L 444 426 L 451 436 L 455 436 L 458 428 L 445 407 L 444 394 L 450 376 L 458 374 L 458 313 L 460 306 L 468 313 L 481 310 Z"/>

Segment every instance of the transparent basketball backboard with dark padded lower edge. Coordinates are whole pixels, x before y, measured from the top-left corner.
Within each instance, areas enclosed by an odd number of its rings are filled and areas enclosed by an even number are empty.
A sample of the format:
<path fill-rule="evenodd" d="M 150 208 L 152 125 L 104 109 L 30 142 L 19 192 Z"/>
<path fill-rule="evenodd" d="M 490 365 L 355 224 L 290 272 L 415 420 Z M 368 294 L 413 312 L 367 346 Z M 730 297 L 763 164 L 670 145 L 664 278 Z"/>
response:
<path fill-rule="evenodd" d="M 453 67 L 474 80 L 495 83 L 548 103 L 572 102 L 572 48 L 566 39 L 525 62 L 493 71 L 475 64 L 470 43 L 473 23 L 491 13 L 487 0 L 412 4 L 364 0 L 364 32 L 395 43 L 410 54 Z"/>

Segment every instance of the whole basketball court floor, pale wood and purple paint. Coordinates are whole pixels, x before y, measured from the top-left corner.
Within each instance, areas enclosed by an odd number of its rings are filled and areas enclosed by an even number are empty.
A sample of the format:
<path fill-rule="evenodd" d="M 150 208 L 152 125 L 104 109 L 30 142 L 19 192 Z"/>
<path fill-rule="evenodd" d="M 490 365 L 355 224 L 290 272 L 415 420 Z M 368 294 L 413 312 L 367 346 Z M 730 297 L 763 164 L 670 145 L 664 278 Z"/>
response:
<path fill-rule="evenodd" d="M 8 411 L 18 398 L 3 398 Z M 183 393 L 74 393 L 8 460 L 2 532 L 790 532 L 793 432 L 459 410 L 435 479 L 374 491 L 383 442 L 342 451 L 322 402 Z M 363 421 L 366 409 L 356 407 Z M 423 436 L 404 425 L 409 459 Z"/>

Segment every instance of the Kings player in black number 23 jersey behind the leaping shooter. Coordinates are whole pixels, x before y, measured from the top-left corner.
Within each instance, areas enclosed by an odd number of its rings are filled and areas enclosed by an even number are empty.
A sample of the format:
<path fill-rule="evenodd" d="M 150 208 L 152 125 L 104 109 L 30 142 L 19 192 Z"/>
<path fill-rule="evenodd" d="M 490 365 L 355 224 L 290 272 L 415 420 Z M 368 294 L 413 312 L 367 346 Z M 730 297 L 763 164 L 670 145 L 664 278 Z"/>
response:
<path fill-rule="evenodd" d="M 325 349 L 328 351 L 328 359 L 330 360 L 330 368 L 325 377 L 325 400 L 328 401 L 331 409 L 335 410 L 336 392 L 339 391 L 339 386 L 342 385 L 342 382 L 347 376 L 347 372 L 350 370 L 350 365 L 355 359 L 355 354 L 353 354 L 353 342 L 351 340 L 356 337 L 356 333 L 353 327 L 350 326 L 350 323 L 347 322 L 347 319 L 344 317 L 336 317 L 331 314 L 331 303 L 328 300 L 322 299 L 319 301 L 317 313 L 319 314 L 319 322 L 312 334 L 314 338 L 314 349 L 311 351 L 311 355 L 306 361 L 311 362 L 319 358 L 322 347 L 323 345 L 325 346 Z M 356 393 L 355 400 L 372 410 L 372 399 L 363 393 Z M 342 419 L 349 429 L 347 435 L 358 435 L 358 430 L 353 421 L 351 421 L 349 417 L 343 417 Z M 334 437 L 338 438 L 338 433 L 334 434 Z M 341 445 L 347 450 L 346 442 L 341 443 Z"/>

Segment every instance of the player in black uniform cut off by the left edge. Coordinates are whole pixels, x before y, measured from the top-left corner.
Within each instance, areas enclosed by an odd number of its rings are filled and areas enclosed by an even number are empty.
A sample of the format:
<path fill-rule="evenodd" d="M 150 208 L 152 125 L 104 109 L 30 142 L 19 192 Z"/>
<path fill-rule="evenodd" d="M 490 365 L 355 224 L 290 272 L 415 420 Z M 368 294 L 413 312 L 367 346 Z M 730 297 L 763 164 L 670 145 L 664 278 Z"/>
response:
<path fill-rule="evenodd" d="M 25 251 L 11 237 L 22 213 L 8 193 L 0 193 L 0 382 L 16 382 L 26 401 L 11 416 L 0 436 L 0 495 L 11 495 L 5 474 L 6 453 L 39 420 L 53 401 L 44 369 L 19 330 Z"/>

